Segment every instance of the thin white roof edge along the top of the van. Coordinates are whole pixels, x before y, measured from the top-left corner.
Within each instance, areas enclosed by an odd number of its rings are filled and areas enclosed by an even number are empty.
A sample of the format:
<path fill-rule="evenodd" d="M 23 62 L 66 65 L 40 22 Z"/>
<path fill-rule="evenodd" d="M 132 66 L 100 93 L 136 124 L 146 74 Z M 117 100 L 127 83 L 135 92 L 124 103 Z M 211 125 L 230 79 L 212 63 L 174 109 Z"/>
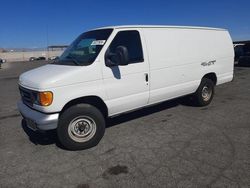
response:
<path fill-rule="evenodd" d="M 174 26 L 174 25 L 118 25 L 118 26 L 107 26 L 97 29 L 123 29 L 123 28 L 179 28 L 179 29 L 200 29 L 200 30 L 219 30 L 226 31 L 222 28 L 213 27 L 197 27 L 197 26 Z"/>

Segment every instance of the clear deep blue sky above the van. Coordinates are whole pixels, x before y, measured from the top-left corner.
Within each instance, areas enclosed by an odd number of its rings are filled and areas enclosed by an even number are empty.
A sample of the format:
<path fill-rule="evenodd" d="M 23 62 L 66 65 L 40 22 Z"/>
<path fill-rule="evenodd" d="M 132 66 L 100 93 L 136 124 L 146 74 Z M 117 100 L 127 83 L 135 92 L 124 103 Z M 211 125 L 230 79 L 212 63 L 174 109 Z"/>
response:
<path fill-rule="evenodd" d="M 109 25 L 188 25 L 228 29 L 250 40 L 250 0 L 1 0 L 0 48 L 67 45 Z"/>

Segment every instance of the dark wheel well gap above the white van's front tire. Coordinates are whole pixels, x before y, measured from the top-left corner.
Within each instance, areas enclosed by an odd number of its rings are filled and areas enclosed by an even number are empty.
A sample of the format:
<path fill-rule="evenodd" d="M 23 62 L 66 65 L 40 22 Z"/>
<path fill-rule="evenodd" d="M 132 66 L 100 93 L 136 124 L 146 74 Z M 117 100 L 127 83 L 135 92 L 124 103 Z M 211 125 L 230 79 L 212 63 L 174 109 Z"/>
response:
<path fill-rule="evenodd" d="M 108 108 L 107 108 L 106 104 L 103 102 L 103 100 L 100 97 L 97 97 L 97 96 L 87 96 L 87 97 L 80 97 L 77 99 L 73 99 L 73 100 L 69 101 L 63 107 L 61 113 L 63 113 L 69 107 L 80 104 L 80 103 L 86 103 L 86 104 L 93 105 L 102 112 L 102 114 L 105 118 L 108 117 Z"/>

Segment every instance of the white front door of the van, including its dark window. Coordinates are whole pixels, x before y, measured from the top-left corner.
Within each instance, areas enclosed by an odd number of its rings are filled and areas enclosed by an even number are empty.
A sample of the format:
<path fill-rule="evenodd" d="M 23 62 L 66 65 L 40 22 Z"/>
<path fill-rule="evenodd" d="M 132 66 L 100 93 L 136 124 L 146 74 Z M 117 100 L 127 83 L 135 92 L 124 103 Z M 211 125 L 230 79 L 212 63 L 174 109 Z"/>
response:
<path fill-rule="evenodd" d="M 122 29 L 114 31 L 115 37 L 107 50 L 115 53 L 125 46 L 129 53 L 128 65 L 107 67 L 103 65 L 103 80 L 108 100 L 109 115 L 142 107 L 149 100 L 149 64 L 142 31 Z"/>

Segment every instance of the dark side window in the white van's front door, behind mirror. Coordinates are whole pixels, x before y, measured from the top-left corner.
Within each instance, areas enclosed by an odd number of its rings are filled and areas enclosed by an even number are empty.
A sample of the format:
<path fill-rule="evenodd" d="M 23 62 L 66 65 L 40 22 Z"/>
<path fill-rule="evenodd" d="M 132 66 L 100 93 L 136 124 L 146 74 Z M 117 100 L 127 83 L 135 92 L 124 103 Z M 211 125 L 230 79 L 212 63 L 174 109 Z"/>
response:
<path fill-rule="evenodd" d="M 109 46 L 111 53 L 115 53 L 118 46 L 128 49 L 129 63 L 143 62 L 142 44 L 138 31 L 120 31 Z"/>

